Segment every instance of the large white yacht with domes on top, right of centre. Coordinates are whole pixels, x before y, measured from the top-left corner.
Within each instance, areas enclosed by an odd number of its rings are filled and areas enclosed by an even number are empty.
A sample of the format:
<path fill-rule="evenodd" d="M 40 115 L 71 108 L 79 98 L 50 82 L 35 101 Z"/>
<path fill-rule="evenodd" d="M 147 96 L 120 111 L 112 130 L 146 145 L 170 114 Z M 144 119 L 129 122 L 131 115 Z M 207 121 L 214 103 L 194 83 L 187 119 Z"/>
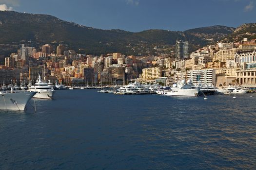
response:
<path fill-rule="evenodd" d="M 157 94 L 167 96 L 198 96 L 199 88 L 192 88 L 191 80 L 186 84 L 185 80 L 174 84 L 171 89 L 158 89 Z"/>

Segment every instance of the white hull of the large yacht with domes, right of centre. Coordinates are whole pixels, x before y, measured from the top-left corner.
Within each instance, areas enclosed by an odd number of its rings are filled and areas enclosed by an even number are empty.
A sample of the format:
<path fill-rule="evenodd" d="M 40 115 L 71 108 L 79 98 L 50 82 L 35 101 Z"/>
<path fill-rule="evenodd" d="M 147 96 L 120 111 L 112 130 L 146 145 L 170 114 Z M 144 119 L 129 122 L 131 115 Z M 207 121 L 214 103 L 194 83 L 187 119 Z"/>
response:
<path fill-rule="evenodd" d="M 173 89 L 173 90 L 157 90 L 156 93 L 166 96 L 198 96 L 199 89 Z"/>

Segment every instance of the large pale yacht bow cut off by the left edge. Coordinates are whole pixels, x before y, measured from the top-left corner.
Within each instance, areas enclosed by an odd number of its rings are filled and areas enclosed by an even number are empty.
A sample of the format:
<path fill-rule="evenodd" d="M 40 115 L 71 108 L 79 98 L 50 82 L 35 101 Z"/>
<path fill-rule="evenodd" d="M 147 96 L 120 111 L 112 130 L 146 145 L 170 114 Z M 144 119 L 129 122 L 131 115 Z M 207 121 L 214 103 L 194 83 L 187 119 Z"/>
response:
<path fill-rule="evenodd" d="M 24 110 L 27 102 L 36 94 L 34 91 L 0 91 L 0 110 Z"/>

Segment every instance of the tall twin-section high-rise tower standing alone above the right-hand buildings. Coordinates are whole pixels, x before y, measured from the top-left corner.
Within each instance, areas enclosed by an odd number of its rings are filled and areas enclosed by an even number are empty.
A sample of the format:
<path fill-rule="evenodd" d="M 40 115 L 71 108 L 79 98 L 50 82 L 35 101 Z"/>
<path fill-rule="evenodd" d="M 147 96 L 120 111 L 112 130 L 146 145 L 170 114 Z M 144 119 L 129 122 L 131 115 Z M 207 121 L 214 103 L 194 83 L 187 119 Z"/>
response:
<path fill-rule="evenodd" d="M 176 60 L 189 59 L 190 44 L 188 41 L 177 40 L 175 44 Z"/>

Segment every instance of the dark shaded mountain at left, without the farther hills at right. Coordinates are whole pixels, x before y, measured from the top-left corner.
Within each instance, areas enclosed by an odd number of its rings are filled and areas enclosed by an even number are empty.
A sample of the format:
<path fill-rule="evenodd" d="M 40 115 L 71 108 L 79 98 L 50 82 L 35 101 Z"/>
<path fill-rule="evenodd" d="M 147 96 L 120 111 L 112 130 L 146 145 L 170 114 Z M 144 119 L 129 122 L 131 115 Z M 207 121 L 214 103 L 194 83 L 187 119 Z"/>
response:
<path fill-rule="evenodd" d="M 73 22 L 63 21 L 57 17 L 38 14 L 24 14 L 14 11 L 0 11 L 0 50 L 5 55 L 16 51 L 17 44 L 39 46 L 44 43 L 62 42 L 70 48 L 82 52 L 100 54 L 120 51 L 128 54 L 138 54 L 132 47 L 173 45 L 176 39 L 196 39 L 180 32 L 164 30 L 148 30 L 131 33 L 122 30 L 101 30 L 81 26 Z M 12 44 L 6 47 L 4 44 Z M 13 48 L 12 48 L 13 47 Z M 5 53 L 6 51 L 7 53 Z"/>

